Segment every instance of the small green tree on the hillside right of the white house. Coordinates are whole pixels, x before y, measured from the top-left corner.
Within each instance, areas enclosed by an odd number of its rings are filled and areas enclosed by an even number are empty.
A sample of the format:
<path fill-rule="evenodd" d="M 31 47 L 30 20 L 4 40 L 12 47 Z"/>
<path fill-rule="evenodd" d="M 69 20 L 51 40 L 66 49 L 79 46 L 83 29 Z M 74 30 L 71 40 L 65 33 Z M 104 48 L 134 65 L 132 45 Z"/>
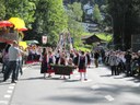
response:
<path fill-rule="evenodd" d="M 93 20 L 97 23 L 102 21 L 102 15 L 97 4 L 94 5 Z"/>

